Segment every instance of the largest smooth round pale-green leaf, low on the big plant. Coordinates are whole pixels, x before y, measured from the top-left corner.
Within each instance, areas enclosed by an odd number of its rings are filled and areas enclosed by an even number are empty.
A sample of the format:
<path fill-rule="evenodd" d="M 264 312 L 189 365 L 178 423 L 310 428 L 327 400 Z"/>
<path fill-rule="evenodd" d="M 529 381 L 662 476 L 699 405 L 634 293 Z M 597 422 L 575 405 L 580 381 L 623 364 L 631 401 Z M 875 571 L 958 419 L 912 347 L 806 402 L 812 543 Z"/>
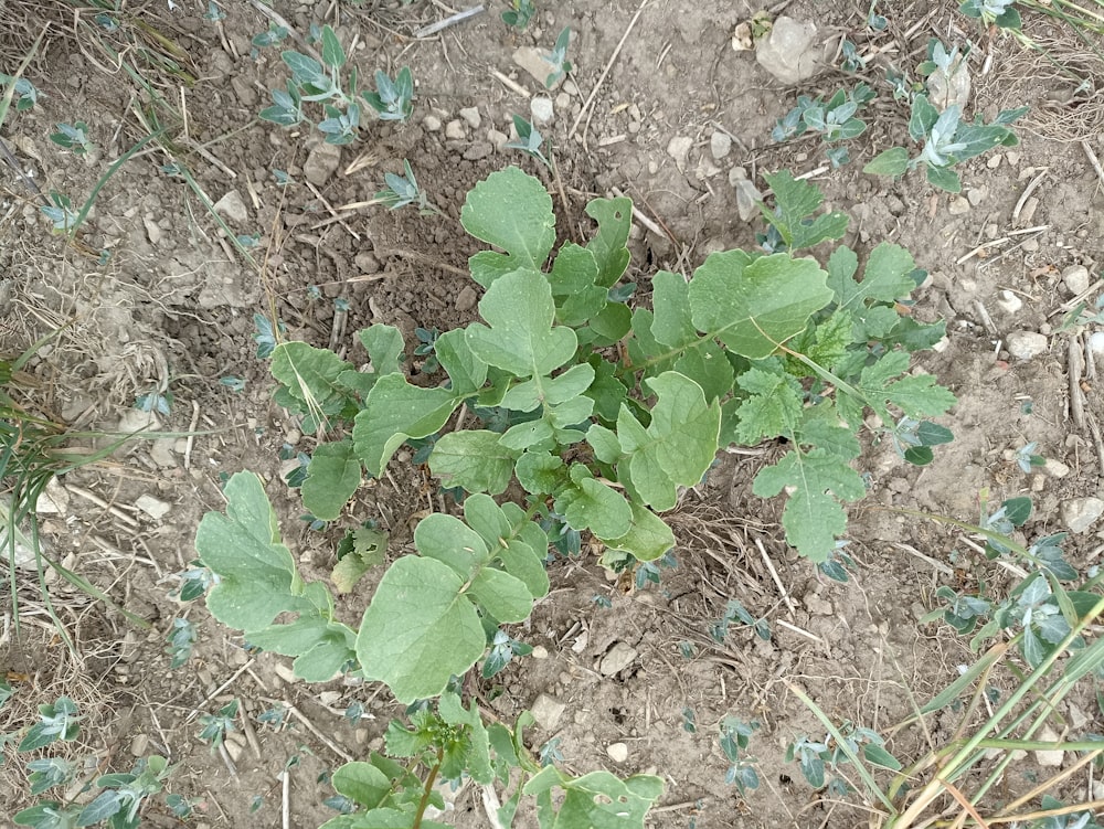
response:
<path fill-rule="evenodd" d="M 437 697 L 486 648 L 464 580 L 435 559 L 407 555 L 388 570 L 364 612 L 357 658 L 403 704 Z"/>

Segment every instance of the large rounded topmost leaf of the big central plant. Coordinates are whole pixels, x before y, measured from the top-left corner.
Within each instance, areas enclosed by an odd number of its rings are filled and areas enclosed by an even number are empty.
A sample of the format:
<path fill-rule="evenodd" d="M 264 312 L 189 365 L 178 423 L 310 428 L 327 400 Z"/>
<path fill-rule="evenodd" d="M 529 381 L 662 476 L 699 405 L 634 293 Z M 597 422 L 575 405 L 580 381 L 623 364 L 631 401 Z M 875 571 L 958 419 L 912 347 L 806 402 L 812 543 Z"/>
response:
<path fill-rule="evenodd" d="M 492 172 L 475 185 L 460 210 L 460 224 L 506 251 L 481 251 L 468 261 L 471 277 L 485 288 L 519 268 L 539 272 L 555 244 L 552 196 L 517 167 Z"/>

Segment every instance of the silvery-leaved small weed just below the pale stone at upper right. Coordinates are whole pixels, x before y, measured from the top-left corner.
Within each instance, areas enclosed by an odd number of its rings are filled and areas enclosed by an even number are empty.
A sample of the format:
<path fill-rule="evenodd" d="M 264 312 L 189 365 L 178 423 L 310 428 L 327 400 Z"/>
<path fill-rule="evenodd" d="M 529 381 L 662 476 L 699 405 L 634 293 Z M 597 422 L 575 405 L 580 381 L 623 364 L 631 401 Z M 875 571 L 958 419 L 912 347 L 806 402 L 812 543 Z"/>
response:
<path fill-rule="evenodd" d="M 920 155 L 910 157 L 906 148 L 892 147 L 879 153 L 862 171 L 878 176 L 903 176 L 923 167 L 933 187 L 951 193 L 962 192 L 962 180 L 953 168 L 996 147 L 1015 147 L 1018 139 L 1009 126 L 1027 110 L 1026 106 L 1005 109 L 992 124 L 986 124 L 980 116 L 968 123 L 962 119 L 962 109 L 957 104 L 940 113 L 926 95 L 915 95 L 909 136 L 914 141 L 923 142 Z"/>

